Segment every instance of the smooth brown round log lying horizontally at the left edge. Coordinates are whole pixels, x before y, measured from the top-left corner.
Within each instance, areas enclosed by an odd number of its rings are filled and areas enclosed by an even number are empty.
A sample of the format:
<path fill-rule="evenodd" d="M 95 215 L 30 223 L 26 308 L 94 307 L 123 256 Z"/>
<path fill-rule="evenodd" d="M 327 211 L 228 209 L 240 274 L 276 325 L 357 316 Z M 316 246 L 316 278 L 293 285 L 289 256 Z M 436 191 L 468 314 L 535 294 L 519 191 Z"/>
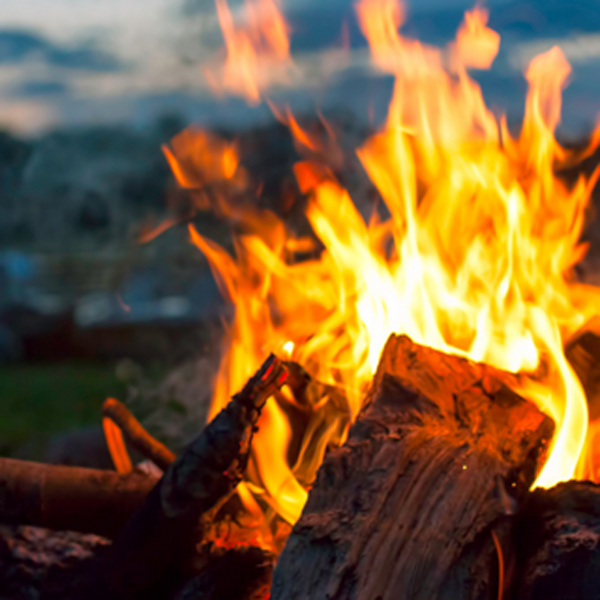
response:
<path fill-rule="evenodd" d="M 157 478 L 0 458 L 0 523 L 117 536 Z"/>

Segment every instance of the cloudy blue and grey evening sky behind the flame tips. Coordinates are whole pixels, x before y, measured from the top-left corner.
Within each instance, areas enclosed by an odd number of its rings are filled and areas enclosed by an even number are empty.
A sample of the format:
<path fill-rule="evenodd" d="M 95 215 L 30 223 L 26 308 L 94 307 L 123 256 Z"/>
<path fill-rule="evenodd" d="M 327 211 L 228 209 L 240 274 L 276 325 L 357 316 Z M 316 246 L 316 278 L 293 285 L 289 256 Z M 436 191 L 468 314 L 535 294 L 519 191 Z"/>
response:
<path fill-rule="evenodd" d="M 274 93 L 351 109 L 367 101 L 358 82 L 369 69 L 368 53 L 352 2 L 282 3 L 301 69 Z M 243 14 L 239 0 L 230 4 L 234 15 Z M 409 0 L 407 34 L 443 45 L 470 4 Z M 564 121 L 573 130 L 589 126 L 600 110 L 600 2 L 490 0 L 487 6 L 503 40 L 492 73 L 480 77 L 490 104 L 518 113 L 524 65 L 558 43 L 574 67 Z M 338 73 L 335 47 L 344 20 L 352 68 Z M 35 135 L 90 123 L 142 126 L 169 112 L 196 121 L 264 118 L 264 106 L 213 99 L 201 67 L 221 44 L 213 0 L 0 0 L 0 127 Z"/>

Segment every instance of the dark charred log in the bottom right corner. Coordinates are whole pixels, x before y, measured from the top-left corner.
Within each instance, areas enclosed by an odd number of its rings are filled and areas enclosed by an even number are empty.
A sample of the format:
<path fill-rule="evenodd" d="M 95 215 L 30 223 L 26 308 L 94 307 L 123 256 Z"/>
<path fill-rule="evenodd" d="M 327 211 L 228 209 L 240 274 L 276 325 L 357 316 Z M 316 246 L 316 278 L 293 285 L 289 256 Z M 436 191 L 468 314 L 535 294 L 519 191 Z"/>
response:
<path fill-rule="evenodd" d="M 515 600 L 600 598 L 600 486 L 535 490 L 517 520 Z"/>

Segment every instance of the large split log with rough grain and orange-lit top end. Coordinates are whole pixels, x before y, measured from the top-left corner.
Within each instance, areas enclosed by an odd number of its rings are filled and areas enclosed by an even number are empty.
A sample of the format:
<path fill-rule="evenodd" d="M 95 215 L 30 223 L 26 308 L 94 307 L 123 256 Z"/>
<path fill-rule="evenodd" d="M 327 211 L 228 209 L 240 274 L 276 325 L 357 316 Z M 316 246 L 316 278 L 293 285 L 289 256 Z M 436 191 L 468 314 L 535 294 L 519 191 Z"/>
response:
<path fill-rule="evenodd" d="M 497 598 L 494 536 L 508 548 L 553 431 L 499 376 L 392 336 L 366 408 L 318 472 L 272 600 Z"/>

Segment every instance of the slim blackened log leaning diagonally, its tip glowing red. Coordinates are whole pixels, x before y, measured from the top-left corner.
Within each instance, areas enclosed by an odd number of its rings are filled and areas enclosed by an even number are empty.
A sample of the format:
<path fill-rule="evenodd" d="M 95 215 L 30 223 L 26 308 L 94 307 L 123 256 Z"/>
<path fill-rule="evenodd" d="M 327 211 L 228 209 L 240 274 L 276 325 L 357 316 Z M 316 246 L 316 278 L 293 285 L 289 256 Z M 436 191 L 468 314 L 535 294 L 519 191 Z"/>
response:
<path fill-rule="evenodd" d="M 79 598 L 166 598 L 189 577 L 201 517 L 240 482 L 265 402 L 287 378 L 273 355 L 171 464 Z"/>

